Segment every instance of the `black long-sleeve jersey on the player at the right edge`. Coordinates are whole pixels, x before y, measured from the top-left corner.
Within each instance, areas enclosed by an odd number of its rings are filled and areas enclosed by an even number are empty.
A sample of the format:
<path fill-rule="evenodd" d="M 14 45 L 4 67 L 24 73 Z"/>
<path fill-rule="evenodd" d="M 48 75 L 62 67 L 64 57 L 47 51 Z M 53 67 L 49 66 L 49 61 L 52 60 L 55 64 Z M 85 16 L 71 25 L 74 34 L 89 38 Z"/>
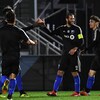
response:
<path fill-rule="evenodd" d="M 94 48 L 95 53 L 100 54 L 100 29 L 93 31 L 93 42 L 86 48 L 86 50 Z"/>

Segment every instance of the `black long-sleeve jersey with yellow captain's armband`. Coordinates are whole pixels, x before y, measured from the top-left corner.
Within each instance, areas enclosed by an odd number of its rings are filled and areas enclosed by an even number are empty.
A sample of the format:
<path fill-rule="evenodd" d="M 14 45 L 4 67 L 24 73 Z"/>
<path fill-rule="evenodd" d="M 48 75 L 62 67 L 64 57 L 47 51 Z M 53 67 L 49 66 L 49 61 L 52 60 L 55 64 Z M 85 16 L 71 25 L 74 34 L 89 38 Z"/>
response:
<path fill-rule="evenodd" d="M 49 35 L 55 34 L 62 37 L 64 51 L 69 52 L 74 47 L 80 48 L 84 43 L 82 30 L 77 25 L 72 25 L 70 27 L 67 25 L 62 25 L 52 32 L 46 28 L 44 29 Z"/>

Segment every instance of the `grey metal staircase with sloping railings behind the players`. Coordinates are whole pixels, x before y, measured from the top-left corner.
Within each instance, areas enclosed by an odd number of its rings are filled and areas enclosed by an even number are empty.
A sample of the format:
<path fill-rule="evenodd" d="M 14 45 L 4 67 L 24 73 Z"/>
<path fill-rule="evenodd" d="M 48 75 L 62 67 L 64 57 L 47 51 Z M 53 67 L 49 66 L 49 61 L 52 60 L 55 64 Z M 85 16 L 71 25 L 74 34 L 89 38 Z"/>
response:
<path fill-rule="evenodd" d="M 17 26 L 26 27 L 26 25 L 23 24 L 18 19 L 17 19 Z M 37 49 L 37 52 L 35 52 L 36 53 L 35 55 L 61 55 L 62 53 L 61 48 L 63 44 L 55 40 L 53 37 L 49 36 L 48 34 L 46 34 L 43 30 L 39 28 L 37 28 L 37 30 L 38 32 L 34 30 L 30 30 L 27 32 L 30 38 L 32 38 L 34 41 L 37 40 L 37 45 L 34 48 L 34 50 Z M 43 34 L 44 37 L 40 33 Z M 46 39 L 45 37 L 48 37 L 48 39 Z M 49 41 L 49 39 L 52 40 L 53 42 Z"/>

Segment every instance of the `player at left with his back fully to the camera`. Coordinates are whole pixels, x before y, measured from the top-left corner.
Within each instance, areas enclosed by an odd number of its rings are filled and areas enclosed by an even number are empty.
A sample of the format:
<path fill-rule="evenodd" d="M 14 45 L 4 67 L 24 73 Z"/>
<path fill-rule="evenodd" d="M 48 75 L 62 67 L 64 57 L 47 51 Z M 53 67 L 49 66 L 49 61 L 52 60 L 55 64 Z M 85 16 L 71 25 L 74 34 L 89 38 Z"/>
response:
<path fill-rule="evenodd" d="M 15 26 L 15 13 L 6 13 L 7 24 L 0 28 L 0 46 L 2 52 L 2 83 L 9 79 L 8 100 L 12 100 L 12 95 L 16 86 L 16 76 L 19 72 L 20 44 L 35 44 L 26 33 Z"/>

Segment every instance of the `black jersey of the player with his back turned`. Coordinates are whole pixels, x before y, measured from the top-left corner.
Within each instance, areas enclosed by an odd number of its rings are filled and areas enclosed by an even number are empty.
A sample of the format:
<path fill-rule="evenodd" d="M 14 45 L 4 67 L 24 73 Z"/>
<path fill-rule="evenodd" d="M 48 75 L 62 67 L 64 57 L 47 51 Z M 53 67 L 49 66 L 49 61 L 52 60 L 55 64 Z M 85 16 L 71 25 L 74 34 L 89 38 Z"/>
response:
<path fill-rule="evenodd" d="M 20 28 L 14 25 L 4 25 L 0 28 L 0 46 L 2 56 L 18 56 L 20 51 L 20 43 L 27 42 L 29 37 Z"/>

